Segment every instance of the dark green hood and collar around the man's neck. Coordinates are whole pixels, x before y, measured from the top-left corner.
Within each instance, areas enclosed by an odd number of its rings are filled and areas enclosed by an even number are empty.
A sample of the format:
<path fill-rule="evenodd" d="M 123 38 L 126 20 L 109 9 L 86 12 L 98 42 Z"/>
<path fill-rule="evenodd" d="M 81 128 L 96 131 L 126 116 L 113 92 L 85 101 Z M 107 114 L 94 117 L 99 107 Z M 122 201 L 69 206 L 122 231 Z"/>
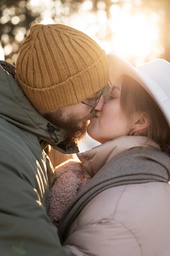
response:
<path fill-rule="evenodd" d="M 61 153 L 78 152 L 78 147 L 69 138 L 64 129 L 51 124 L 33 108 L 15 79 L 0 65 L 0 117 L 20 129 L 34 133 L 46 146 L 50 144 Z"/>

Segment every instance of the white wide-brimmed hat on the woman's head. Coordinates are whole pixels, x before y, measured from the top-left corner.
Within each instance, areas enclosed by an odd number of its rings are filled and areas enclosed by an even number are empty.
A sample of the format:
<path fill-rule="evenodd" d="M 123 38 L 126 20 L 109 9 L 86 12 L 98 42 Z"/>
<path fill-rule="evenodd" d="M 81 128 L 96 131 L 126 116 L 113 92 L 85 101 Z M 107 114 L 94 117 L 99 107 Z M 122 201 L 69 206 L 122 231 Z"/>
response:
<path fill-rule="evenodd" d="M 170 63 L 156 59 L 134 67 L 116 54 L 107 54 L 107 60 L 110 86 L 123 74 L 131 76 L 155 100 L 170 127 Z"/>

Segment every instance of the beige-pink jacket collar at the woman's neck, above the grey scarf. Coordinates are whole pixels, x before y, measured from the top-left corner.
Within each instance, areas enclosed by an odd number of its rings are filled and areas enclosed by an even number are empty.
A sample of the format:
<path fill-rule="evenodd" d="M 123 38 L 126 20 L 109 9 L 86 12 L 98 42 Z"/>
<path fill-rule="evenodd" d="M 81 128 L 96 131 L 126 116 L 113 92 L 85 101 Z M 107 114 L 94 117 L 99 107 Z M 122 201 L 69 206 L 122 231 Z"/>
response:
<path fill-rule="evenodd" d="M 91 179 L 114 156 L 127 150 L 149 146 L 160 149 L 160 146 L 148 137 L 123 136 L 78 153 L 77 157 L 82 162 L 85 177 Z"/>

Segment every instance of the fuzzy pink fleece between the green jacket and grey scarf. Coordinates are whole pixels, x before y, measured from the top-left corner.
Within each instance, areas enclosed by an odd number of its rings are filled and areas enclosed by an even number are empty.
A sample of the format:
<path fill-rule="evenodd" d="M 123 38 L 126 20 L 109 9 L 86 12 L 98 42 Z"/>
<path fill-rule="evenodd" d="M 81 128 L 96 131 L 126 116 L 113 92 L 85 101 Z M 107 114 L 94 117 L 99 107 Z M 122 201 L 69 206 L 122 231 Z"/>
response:
<path fill-rule="evenodd" d="M 54 169 L 54 183 L 50 189 L 48 216 L 58 227 L 61 216 L 69 203 L 83 189 L 87 180 L 80 161 L 69 159 Z"/>

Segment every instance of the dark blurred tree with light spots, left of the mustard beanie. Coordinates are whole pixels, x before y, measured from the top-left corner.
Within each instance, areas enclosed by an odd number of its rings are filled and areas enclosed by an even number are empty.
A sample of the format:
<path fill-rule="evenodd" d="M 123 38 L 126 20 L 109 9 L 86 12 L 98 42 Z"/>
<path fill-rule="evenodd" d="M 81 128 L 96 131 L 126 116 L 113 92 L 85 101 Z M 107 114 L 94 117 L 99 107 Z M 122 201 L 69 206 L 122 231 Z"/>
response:
<path fill-rule="evenodd" d="M 0 42 L 7 61 L 15 62 L 20 43 L 26 36 L 31 23 L 38 16 L 38 13 L 35 15 L 31 13 L 25 0 L 1 0 Z"/>

